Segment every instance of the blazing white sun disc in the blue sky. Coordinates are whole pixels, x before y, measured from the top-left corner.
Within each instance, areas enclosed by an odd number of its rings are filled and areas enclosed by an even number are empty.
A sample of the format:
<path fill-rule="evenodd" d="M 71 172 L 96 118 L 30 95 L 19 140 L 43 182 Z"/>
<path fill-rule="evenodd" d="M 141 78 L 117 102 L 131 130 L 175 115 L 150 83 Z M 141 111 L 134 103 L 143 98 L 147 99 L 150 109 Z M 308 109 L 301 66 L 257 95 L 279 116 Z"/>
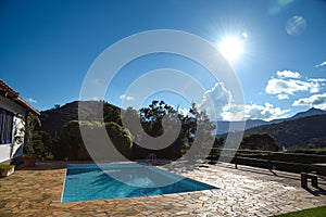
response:
<path fill-rule="evenodd" d="M 228 62 L 234 62 L 243 52 L 242 42 L 236 37 L 224 38 L 218 43 L 218 51 Z"/>

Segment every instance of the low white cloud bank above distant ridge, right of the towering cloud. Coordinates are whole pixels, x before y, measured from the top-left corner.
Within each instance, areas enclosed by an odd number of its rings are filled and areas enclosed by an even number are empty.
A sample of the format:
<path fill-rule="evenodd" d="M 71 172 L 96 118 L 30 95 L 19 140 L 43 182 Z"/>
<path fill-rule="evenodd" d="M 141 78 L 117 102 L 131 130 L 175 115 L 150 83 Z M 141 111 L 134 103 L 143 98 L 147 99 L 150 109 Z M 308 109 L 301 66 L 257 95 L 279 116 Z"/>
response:
<path fill-rule="evenodd" d="M 244 107 L 244 119 L 263 119 L 272 120 L 276 118 L 285 117 L 285 114 L 290 110 L 281 110 L 280 107 L 274 107 L 273 104 L 266 102 L 264 105 L 249 104 L 249 105 L 237 105 L 236 107 L 243 111 Z M 226 111 L 223 113 L 224 120 L 243 120 L 240 118 L 243 112 L 230 112 Z"/>

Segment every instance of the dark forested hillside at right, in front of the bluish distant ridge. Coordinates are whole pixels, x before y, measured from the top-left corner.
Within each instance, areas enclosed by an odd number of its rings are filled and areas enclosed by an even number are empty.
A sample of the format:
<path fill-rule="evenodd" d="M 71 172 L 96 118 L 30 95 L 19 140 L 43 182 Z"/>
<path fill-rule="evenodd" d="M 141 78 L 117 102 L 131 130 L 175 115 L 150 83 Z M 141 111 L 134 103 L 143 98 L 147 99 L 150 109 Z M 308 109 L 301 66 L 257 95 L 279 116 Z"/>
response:
<path fill-rule="evenodd" d="M 246 133 L 267 132 L 280 148 L 325 148 L 325 129 L 326 114 L 321 114 L 253 127 L 246 130 Z"/>

